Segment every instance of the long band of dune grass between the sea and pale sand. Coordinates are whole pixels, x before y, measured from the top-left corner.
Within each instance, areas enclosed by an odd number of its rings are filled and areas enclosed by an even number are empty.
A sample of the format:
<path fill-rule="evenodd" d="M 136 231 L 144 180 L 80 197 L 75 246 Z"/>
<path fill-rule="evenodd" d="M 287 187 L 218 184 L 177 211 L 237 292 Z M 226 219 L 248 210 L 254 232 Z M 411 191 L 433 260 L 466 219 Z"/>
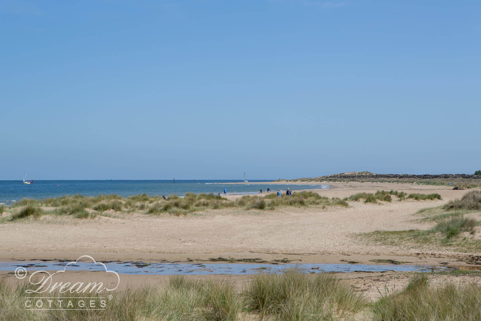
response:
<path fill-rule="evenodd" d="M 95 218 L 97 215 L 112 216 L 114 213 L 140 212 L 143 214 L 170 214 L 187 215 L 205 211 L 207 209 L 220 208 L 243 208 L 274 210 L 279 206 L 344 206 L 348 207 L 345 200 L 329 198 L 314 192 L 296 192 L 291 196 L 278 197 L 276 193 L 259 195 L 243 195 L 236 200 L 229 200 L 226 197 L 215 194 L 194 194 L 187 193 L 184 197 L 170 195 L 166 199 L 160 196 L 148 196 L 139 194 L 127 198 L 113 195 L 98 195 L 96 197 L 65 195 L 44 200 L 22 199 L 12 205 L 13 215 L 10 220 L 19 218 L 39 218 L 43 214 L 65 215 L 74 218 Z M 16 209 L 21 207 L 19 209 Z M 25 208 L 36 208 L 35 215 L 20 214 Z M 42 210 L 42 208 L 47 208 Z M 29 209 L 31 211 L 31 209 Z"/>

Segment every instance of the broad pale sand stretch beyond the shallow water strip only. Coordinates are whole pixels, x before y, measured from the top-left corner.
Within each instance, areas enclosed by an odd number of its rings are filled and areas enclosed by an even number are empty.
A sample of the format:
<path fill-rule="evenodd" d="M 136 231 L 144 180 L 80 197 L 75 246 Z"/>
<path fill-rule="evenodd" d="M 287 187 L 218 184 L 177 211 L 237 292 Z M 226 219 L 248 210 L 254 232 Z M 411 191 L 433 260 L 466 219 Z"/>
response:
<path fill-rule="evenodd" d="M 439 193 L 442 200 L 349 202 L 349 208 L 280 207 L 274 211 L 239 208 L 207 210 L 187 217 L 121 214 L 74 220 L 45 217 L 35 222 L 0 225 L 0 259 L 67 258 L 90 254 L 103 260 L 168 260 L 189 258 L 288 257 L 302 262 L 336 262 L 367 257 L 409 257 L 412 262 L 456 261 L 466 253 L 441 246 L 405 249 L 356 241 L 355 233 L 427 229 L 432 222 L 416 221 L 415 213 L 461 197 L 466 191 L 415 184 L 335 183 L 317 190 L 323 196 L 348 197 L 354 193 L 399 190 L 406 193 Z M 295 184 L 292 184 L 295 189 Z M 295 192 L 294 192 L 295 193 Z M 263 193 L 262 195 L 265 195 Z M 239 195 L 227 196 L 228 199 Z M 8 215 L 8 214 L 4 214 Z M 479 235 L 479 234 L 478 234 Z M 475 237 L 478 237 L 475 235 Z M 480 253 L 470 253 L 480 254 Z"/>

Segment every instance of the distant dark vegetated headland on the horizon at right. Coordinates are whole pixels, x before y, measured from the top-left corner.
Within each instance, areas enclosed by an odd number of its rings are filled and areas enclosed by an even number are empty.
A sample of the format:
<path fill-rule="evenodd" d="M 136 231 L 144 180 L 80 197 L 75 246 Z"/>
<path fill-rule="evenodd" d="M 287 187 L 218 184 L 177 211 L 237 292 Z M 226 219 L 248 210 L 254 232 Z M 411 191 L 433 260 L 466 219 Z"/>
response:
<path fill-rule="evenodd" d="M 278 180 L 274 180 L 278 181 Z M 371 172 L 349 172 L 339 173 L 327 176 L 300 178 L 295 180 L 287 180 L 291 182 L 381 182 L 381 183 L 409 183 L 409 184 L 426 184 L 449 186 L 458 186 L 460 188 L 476 188 L 481 186 L 481 175 L 474 174 L 442 174 L 442 175 L 411 175 L 411 174 L 374 174 Z"/>

